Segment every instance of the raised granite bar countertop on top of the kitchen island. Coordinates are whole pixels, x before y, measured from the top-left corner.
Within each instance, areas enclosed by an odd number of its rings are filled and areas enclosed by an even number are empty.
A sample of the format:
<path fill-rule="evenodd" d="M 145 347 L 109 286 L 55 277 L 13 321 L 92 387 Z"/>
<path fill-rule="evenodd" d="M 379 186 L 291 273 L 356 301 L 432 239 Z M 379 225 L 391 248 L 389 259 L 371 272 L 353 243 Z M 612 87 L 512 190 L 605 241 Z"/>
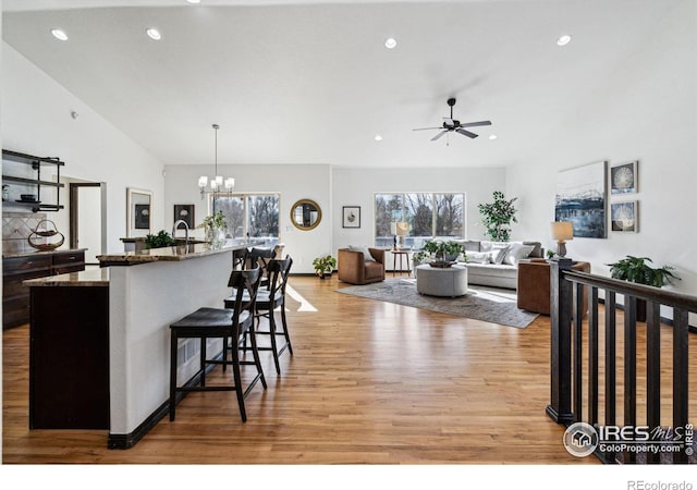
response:
<path fill-rule="evenodd" d="M 145 262 L 188 260 L 197 257 L 205 257 L 207 255 L 242 250 L 248 246 L 252 246 L 252 244 L 231 243 L 221 247 L 213 247 L 209 243 L 194 243 L 188 245 L 176 245 L 173 247 L 148 248 L 139 252 L 98 255 L 97 259 L 102 266 L 132 266 Z"/>

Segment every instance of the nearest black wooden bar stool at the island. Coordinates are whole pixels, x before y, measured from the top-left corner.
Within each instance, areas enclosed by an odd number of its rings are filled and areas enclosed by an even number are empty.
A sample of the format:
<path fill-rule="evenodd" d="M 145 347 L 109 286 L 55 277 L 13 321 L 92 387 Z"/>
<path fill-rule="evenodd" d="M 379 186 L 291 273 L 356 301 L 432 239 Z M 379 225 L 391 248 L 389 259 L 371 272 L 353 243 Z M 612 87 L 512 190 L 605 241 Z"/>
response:
<path fill-rule="evenodd" d="M 256 383 L 261 380 L 261 384 L 266 390 L 266 378 L 261 369 L 259 353 L 257 351 L 256 335 L 254 329 L 255 305 L 257 292 L 259 289 L 259 280 L 261 279 L 261 270 L 259 268 L 250 270 L 233 270 L 228 281 L 228 286 L 234 287 L 235 303 L 233 308 L 199 308 L 191 315 L 170 324 L 171 345 L 170 345 L 170 420 L 174 420 L 176 407 L 176 394 L 180 392 L 191 391 L 235 391 L 237 403 L 240 405 L 240 415 L 242 421 L 247 420 L 247 414 L 244 406 L 244 400 L 247 397 Z M 248 333 L 254 360 L 241 360 L 240 350 L 230 348 L 231 360 L 228 360 L 228 348 L 223 348 L 221 358 L 208 359 L 206 356 L 206 342 L 208 339 L 222 339 L 223 345 L 227 346 L 228 339 L 234 339 L 233 346 L 236 346 L 241 339 L 246 339 Z M 185 385 L 178 387 L 176 367 L 178 367 L 178 350 L 180 339 L 199 339 L 200 340 L 200 359 L 199 370 L 192 377 L 191 382 Z M 206 385 L 206 372 L 209 365 L 221 364 L 223 368 L 228 365 L 232 366 L 233 385 Z M 254 365 L 257 373 L 254 379 L 243 390 L 242 376 L 240 372 L 241 365 Z M 198 383 L 195 381 L 198 378 Z"/>

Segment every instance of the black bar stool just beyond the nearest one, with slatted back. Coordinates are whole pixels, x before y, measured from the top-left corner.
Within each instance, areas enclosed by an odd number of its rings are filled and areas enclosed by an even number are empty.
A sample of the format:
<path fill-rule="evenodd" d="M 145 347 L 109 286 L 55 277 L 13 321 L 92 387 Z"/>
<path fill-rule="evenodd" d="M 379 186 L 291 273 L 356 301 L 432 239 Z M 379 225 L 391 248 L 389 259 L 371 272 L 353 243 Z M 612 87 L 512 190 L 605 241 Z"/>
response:
<path fill-rule="evenodd" d="M 270 346 L 257 346 L 257 350 L 271 351 L 273 355 L 273 364 L 276 365 L 276 372 L 278 375 L 281 373 L 279 356 L 283 354 L 285 350 L 288 350 L 289 353 L 293 355 L 293 345 L 291 344 L 291 336 L 289 334 L 288 321 L 285 318 L 285 286 L 288 284 L 288 278 L 291 272 L 292 266 L 293 259 L 290 256 L 286 256 L 286 258 L 282 260 L 269 260 L 267 265 L 269 283 L 266 287 L 259 289 L 256 299 L 255 317 L 257 320 L 257 329 L 255 330 L 255 333 L 257 335 L 269 335 L 271 341 Z M 225 298 L 225 308 L 234 308 L 237 302 L 237 295 Z M 276 322 L 274 311 L 277 308 L 281 309 L 280 329 L 277 329 L 278 324 Z M 269 320 L 268 330 L 259 330 L 258 327 L 261 317 L 266 317 Z M 247 338 L 249 338 L 252 342 L 254 342 L 253 335 L 253 332 L 248 332 L 247 335 L 244 336 L 242 344 L 243 350 L 248 348 L 246 344 Z M 280 348 L 278 345 L 278 336 L 281 336 L 282 342 L 284 342 Z M 254 348 L 254 345 L 252 346 L 252 348 Z"/>

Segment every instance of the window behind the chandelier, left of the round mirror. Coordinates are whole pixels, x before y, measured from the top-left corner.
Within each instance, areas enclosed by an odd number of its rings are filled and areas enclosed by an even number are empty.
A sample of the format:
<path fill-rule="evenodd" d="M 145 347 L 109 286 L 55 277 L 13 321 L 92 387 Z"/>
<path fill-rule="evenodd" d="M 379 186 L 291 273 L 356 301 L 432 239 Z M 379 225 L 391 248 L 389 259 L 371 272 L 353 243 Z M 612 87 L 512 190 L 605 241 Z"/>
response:
<path fill-rule="evenodd" d="M 210 209 L 222 211 L 228 237 L 262 240 L 267 246 L 279 243 L 279 194 L 227 194 L 210 196 Z"/>

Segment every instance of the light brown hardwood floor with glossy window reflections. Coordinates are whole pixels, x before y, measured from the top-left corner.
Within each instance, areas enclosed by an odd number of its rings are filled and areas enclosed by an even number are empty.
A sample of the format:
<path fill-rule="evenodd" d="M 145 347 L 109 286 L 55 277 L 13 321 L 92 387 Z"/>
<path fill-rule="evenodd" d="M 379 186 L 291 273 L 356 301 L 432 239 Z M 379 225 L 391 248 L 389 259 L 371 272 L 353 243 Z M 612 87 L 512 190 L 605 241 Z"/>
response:
<path fill-rule="evenodd" d="M 545 413 L 549 317 L 516 329 L 338 294 L 335 275 L 290 284 L 295 355 L 277 376 L 261 354 L 247 422 L 234 393 L 193 393 L 125 451 L 106 431 L 29 431 L 28 326 L 4 331 L 3 463 L 598 464 Z"/>

